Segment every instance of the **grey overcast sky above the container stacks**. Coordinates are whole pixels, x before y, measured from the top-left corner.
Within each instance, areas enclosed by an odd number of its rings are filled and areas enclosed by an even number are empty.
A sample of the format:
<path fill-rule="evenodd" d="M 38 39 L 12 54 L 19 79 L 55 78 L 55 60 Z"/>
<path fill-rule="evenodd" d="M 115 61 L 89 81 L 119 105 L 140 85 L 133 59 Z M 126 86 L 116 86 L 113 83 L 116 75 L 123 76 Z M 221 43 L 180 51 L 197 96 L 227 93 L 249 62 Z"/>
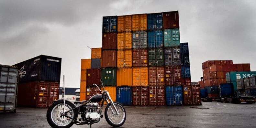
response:
<path fill-rule="evenodd" d="M 206 60 L 250 63 L 256 71 L 255 0 L 0 0 L 0 64 L 39 55 L 62 58 L 61 86 L 80 88 L 86 47 L 102 46 L 102 17 L 179 11 L 180 40 L 189 43 L 191 80 Z"/>

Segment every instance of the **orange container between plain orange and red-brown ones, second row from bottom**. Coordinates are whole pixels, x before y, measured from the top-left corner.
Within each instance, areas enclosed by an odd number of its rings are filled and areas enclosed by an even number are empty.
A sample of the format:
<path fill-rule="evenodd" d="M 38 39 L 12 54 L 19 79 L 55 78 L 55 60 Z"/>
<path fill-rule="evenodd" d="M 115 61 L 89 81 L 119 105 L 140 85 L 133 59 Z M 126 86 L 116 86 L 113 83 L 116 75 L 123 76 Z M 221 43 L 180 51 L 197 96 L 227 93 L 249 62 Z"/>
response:
<path fill-rule="evenodd" d="M 149 86 L 148 68 L 132 69 L 132 86 Z"/>

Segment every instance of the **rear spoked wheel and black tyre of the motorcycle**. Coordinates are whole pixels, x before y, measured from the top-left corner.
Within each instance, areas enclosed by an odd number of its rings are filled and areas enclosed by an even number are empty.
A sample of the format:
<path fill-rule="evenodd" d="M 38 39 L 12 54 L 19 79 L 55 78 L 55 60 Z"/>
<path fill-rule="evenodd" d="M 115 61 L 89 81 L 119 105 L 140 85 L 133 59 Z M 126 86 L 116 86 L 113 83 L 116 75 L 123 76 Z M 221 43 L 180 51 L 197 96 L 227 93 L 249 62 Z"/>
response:
<path fill-rule="evenodd" d="M 65 102 L 65 105 L 64 101 L 54 102 L 47 111 L 47 122 L 53 128 L 70 128 L 74 124 L 74 122 L 71 118 L 61 116 L 61 113 L 63 113 L 64 111 L 67 112 L 73 108 L 75 108 L 75 106 L 68 101 Z M 76 110 L 68 112 L 67 115 L 77 120 Z"/>

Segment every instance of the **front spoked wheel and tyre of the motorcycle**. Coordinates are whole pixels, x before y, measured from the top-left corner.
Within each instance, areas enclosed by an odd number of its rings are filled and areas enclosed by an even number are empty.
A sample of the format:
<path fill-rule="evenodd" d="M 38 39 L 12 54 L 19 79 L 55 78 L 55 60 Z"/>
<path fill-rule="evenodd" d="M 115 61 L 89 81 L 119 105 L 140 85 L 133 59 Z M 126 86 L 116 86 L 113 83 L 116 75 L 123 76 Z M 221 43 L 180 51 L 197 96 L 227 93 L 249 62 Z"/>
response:
<path fill-rule="evenodd" d="M 114 105 L 117 108 L 118 115 L 112 104 L 108 104 L 105 109 L 105 118 L 108 124 L 113 127 L 120 127 L 125 123 L 126 112 L 124 107 L 118 103 L 114 102 Z"/>

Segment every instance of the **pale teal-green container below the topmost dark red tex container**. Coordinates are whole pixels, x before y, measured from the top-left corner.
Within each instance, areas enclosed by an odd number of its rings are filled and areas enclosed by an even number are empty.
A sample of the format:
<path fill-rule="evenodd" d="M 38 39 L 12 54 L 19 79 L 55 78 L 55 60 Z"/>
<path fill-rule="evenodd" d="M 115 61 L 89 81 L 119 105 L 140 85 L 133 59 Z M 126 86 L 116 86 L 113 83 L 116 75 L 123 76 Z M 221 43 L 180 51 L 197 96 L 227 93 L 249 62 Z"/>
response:
<path fill-rule="evenodd" d="M 165 29 L 164 35 L 164 47 L 180 46 L 180 30 L 179 29 Z"/>

